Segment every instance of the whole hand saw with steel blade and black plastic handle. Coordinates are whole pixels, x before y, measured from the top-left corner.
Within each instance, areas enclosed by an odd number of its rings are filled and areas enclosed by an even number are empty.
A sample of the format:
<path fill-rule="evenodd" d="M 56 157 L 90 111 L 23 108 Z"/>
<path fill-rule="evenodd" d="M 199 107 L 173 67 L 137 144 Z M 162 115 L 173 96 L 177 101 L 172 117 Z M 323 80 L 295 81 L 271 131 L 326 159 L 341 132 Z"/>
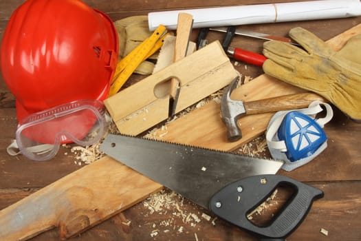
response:
<path fill-rule="evenodd" d="M 322 191 L 274 175 L 283 163 L 159 140 L 109 134 L 100 151 L 176 191 L 237 227 L 262 238 L 287 237 L 307 215 Z M 294 196 L 271 224 L 259 227 L 246 218 L 280 185 Z"/>

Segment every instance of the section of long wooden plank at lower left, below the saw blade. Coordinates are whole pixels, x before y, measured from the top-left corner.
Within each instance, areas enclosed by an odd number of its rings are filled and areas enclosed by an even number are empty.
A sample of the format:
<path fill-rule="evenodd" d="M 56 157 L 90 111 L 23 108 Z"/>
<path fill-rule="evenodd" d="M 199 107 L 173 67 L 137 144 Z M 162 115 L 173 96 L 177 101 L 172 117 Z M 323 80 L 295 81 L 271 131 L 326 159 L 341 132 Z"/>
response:
<path fill-rule="evenodd" d="M 69 238 L 160 188 L 105 157 L 1 210 L 0 240 L 27 240 L 57 226 Z"/>

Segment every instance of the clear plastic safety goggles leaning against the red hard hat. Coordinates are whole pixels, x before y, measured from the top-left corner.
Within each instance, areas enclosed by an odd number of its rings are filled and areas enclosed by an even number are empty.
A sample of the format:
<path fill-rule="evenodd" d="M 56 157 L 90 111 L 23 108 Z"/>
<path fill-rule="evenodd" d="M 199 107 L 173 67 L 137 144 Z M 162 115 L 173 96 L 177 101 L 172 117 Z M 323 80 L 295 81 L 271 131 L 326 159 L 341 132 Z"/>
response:
<path fill-rule="evenodd" d="M 93 145 L 106 127 L 102 101 L 73 101 L 25 118 L 17 128 L 17 145 L 32 160 L 49 160 L 62 144 Z"/>

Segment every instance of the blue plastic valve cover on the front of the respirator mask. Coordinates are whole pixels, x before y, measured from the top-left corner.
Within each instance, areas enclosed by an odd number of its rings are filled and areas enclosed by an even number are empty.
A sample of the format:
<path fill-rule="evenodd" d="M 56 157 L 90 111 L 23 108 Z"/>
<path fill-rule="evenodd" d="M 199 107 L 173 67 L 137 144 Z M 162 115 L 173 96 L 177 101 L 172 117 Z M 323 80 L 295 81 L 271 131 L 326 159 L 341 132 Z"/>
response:
<path fill-rule="evenodd" d="M 313 118 L 296 111 L 285 115 L 277 134 L 285 141 L 285 154 L 292 162 L 311 156 L 327 140 L 325 132 Z"/>

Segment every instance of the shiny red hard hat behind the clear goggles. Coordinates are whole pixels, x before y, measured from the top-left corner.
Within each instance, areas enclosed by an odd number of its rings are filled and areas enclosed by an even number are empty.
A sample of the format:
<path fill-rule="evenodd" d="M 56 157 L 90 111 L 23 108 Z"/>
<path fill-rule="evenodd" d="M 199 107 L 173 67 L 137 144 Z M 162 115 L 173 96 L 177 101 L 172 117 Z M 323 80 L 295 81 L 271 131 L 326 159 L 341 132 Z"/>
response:
<path fill-rule="evenodd" d="M 80 0 L 28 0 L 10 17 L 1 69 L 21 120 L 79 99 L 104 100 L 118 58 L 109 17 Z"/>

